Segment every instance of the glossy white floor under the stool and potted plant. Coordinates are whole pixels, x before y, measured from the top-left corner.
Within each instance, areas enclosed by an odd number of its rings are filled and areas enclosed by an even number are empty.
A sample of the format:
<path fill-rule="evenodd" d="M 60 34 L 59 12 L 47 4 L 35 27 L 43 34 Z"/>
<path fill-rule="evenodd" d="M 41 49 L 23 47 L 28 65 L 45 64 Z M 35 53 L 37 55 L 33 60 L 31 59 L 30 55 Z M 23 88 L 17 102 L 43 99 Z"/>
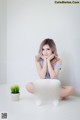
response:
<path fill-rule="evenodd" d="M 35 96 L 25 88 L 21 89 L 20 100 L 13 102 L 10 86 L 0 85 L 0 116 L 2 113 L 7 113 L 7 120 L 80 120 L 80 98 L 69 97 L 57 107 L 50 103 L 39 107 Z"/>

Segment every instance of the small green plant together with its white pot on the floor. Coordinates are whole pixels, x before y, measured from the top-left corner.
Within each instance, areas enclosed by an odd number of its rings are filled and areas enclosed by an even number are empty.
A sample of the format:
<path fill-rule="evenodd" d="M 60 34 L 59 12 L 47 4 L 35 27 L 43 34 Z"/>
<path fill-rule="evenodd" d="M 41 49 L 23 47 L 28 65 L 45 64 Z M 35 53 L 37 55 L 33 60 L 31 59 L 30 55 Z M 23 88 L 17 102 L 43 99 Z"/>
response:
<path fill-rule="evenodd" d="M 18 101 L 20 97 L 20 87 L 19 85 L 11 86 L 11 98 L 13 101 Z"/>

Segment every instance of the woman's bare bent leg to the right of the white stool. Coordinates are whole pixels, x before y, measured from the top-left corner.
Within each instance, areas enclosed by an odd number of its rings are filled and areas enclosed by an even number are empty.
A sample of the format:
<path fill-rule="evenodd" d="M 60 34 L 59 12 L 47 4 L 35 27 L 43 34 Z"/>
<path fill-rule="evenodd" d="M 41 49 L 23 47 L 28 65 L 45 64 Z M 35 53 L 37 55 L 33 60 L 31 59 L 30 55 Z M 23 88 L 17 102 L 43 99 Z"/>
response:
<path fill-rule="evenodd" d="M 73 94 L 74 94 L 74 88 L 72 86 L 64 86 L 61 88 L 61 99 L 62 100 Z"/>

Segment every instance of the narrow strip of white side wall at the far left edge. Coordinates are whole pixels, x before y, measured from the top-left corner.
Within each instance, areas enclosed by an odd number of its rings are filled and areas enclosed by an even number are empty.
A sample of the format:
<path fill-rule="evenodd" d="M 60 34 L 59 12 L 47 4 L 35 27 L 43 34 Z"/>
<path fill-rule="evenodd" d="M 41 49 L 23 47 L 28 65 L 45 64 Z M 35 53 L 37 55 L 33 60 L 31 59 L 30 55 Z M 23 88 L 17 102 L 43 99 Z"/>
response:
<path fill-rule="evenodd" d="M 0 0 L 0 84 L 6 83 L 6 1 Z"/>

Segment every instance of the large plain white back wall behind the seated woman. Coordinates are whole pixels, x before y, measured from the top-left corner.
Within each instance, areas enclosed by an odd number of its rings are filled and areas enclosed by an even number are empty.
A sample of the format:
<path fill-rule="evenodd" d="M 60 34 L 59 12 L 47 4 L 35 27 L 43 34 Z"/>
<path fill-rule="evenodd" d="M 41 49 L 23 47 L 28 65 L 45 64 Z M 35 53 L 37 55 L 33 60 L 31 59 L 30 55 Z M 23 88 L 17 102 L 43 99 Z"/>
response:
<path fill-rule="evenodd" d="M 9 83 L 39 78 L 34 57 L 41 41 L 52 38 L 63 61 L 62 83 L 80 93 L 79 11 L 79 4 L 54 4 L 54 0 L 7 0 Z"/>

